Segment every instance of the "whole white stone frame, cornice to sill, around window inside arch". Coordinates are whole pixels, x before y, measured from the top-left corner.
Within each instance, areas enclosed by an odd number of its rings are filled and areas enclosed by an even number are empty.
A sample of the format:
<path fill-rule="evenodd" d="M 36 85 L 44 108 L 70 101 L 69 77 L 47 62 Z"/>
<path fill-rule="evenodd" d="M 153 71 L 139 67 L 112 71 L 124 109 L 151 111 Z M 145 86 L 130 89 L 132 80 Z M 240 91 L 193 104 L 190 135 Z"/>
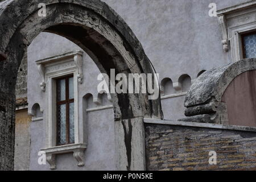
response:
<path fill-rule="evenodd" d="M 43 92 L 46 92 L 46 153 L 51 169 L 56 169 L 56 155 L 73 152 L 77 166 L 84 166 L 84 151 L 86 143 L 83 125 L 79 123 L 79 83 L 82 84 L 82 52 L 71 52 L 36 61 L 44 82 Z M 74 110 L 75 110 L 75 143 L 56 146 L 56 78 L 73 75 L 74 78 Z M 41 84 L 40 84 L 41 85 Z M 81 127 L 82 126 L 82 127 Z"/>

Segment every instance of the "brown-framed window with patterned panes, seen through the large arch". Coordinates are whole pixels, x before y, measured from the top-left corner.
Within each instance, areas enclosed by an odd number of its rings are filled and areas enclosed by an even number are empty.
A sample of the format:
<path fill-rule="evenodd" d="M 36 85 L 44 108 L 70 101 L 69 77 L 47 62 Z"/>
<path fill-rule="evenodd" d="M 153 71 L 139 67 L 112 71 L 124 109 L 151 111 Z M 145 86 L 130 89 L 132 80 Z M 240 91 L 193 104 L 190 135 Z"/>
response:
<path fill-rule="evenodd" d="M 75 143 L 73 75 L 56 80 L 57 145 Z"/>

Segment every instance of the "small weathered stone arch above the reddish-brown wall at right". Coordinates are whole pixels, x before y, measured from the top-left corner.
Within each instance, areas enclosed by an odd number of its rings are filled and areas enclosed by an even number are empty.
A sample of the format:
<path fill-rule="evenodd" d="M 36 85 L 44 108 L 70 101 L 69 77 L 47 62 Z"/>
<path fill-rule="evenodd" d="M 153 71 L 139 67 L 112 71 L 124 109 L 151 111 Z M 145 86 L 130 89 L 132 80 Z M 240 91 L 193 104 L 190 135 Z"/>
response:
<path fill-rule="evenodd" d="M 212 100 L 221 102 L 221 97 L 230 82 L 241 73 L 254 69 L 256 60 L 245 59 L 204 72 L 189 89 L 185 97 L 185 107 L 205 104 Z"/>

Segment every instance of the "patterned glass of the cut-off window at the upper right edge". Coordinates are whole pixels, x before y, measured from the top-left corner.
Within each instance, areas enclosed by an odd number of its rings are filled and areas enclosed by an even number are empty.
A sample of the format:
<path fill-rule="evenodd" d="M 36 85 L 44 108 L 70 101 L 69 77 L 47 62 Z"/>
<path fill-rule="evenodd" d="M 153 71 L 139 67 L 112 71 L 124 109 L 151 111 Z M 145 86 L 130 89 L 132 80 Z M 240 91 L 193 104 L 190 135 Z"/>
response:
<path fill-rule="evenodd" d="M 244 36 L 243 41 L 246 58 L 256 57 L 256 34 Z"/>

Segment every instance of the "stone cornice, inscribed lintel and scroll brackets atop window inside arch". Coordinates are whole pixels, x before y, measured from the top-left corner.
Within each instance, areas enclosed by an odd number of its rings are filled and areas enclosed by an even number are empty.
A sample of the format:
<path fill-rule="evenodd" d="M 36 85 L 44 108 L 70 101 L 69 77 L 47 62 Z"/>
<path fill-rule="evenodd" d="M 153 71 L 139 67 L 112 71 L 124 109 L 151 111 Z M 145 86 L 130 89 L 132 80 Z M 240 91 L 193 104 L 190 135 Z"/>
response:
<path fill-rule="evenodd" d="M 60 64 L 56 65 L 56 63 Z M 78 72 L 77 81 L 82 84 L 82 51 L 73 51 L 62 55 L 48 57 L 46 59 L 36 61 L 36 64 L 38 65 L 38 71 L 42 78 L 40 87 L 43 92 L 46 91 L 46 73 L 58 72 L 74 66 L 76 66 Z"/>

